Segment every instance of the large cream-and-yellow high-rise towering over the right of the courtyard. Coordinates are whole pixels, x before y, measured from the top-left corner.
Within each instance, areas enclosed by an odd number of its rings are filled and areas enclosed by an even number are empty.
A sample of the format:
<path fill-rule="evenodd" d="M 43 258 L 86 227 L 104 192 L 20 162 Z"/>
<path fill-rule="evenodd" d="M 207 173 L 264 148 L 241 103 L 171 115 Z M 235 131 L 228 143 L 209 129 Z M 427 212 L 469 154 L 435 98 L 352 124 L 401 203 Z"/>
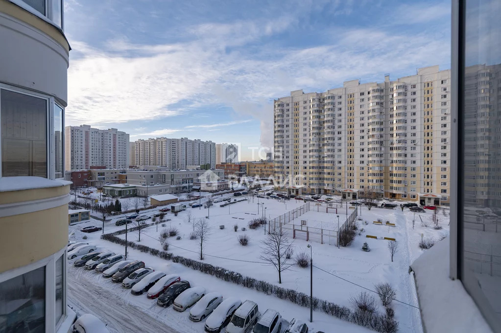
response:
<path fill-rule="evenodd" d="M 275 100 L 276 186 L 448 202 L 449 92 L 450 71 L 432 66 Z"/>

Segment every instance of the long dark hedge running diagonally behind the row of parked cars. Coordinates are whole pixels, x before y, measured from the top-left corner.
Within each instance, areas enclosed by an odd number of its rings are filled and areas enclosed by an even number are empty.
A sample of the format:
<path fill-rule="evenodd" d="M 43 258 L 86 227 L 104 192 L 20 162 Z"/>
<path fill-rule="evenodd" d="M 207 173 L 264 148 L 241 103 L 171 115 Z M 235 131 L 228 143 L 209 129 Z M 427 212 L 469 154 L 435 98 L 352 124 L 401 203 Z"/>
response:
<path fill-rule="evenodd" d="M 101 235 L 101 238 L 125 246 L 125 240 L 117 237 L 114 234 L 103 234 Z M 294 289 L 282 288 L 272 283 L 263 280 L 258 280 L 253 277 L 243 276 L 238 272 L 214 266 L 209 263 L 200 262 L 179 255 L 173 256 L 172 253 L 168 253 L 166 251 L 160 251 L 145 245 L 138 245 L 131 241 L 128 241 L 127 243 L 128 246 L 137 249 L 141 252 L 149 253 L 158 256 L 162 259 L 172 260 L 172 262 L 180 263 L 183 266 L 189 267 L 194 270 L 198 270 L 205 274 L 215 276 L 224 281 L 239 284 L 246 288 L 263 292 L 267 295 L 275 295 L 280 299 L 289 300 L 300 306 L 304 307 L 310 306 L 310 296 L 305 294 L 304 292 L 296 291 Z M 350 308 L 346 306 L 340 306 L 333 302 L 322 300 L 317 297 L 313 297 L 313 308 L 319 309 L 322 312 L 335 316 L 339 319 L 361 324 L 363 326 L 370 327 L 380 332 L 394 333 L 397 331 L 398 328 L 398 322 L 396 322 L 393 319 L 393 317 L 389 317 L 388 315 L 379 315 L 377 313 L 371 312 L 369 318 L 365 314 L 363 318 L 360 318 L 360 315 L 358 315 L 357 310 L 352 311 Z"/>

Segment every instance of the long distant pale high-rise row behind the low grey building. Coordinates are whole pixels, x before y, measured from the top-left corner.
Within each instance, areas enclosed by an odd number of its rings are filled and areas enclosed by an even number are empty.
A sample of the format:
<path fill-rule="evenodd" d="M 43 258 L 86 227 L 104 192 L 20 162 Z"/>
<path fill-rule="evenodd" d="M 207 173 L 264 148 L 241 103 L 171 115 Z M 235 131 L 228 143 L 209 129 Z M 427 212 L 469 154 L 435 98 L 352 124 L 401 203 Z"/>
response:
<path fill-rule="evenodd" d="M 216 166 L 216 145 L 212 141 L 188 138 L 156 138 L 134 143 L 135 165 L 157 165 L 169 169 L 184 169 L 188 165 Z"/>

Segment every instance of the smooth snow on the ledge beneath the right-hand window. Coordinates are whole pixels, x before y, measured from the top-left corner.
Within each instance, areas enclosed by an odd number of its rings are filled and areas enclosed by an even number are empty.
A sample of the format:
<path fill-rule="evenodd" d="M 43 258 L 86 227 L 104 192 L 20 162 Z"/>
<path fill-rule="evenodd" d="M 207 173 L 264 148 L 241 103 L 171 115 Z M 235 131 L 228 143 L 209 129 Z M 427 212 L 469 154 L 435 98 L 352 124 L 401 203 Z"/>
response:
<path fill-rule="evenodd" d="M 461 281 L 449 278 L 449 247 L 449 238 L 444 238 L 410 267 L 414 272 L 424 331 L 492 333 Z"/>

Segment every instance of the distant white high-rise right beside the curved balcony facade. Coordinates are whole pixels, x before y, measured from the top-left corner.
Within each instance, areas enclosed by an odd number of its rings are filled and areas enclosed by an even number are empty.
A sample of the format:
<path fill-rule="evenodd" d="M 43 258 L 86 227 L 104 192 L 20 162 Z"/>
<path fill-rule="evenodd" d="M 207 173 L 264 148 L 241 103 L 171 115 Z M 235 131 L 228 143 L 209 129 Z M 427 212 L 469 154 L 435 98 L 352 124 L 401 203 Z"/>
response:
<path fill-rule="evenodd" d="M 129 167 L 129 135 L 116 128 L 67 126 L 65 139 L 67 170 L 89 169 L 95 165 L 110 169 Z"/>

